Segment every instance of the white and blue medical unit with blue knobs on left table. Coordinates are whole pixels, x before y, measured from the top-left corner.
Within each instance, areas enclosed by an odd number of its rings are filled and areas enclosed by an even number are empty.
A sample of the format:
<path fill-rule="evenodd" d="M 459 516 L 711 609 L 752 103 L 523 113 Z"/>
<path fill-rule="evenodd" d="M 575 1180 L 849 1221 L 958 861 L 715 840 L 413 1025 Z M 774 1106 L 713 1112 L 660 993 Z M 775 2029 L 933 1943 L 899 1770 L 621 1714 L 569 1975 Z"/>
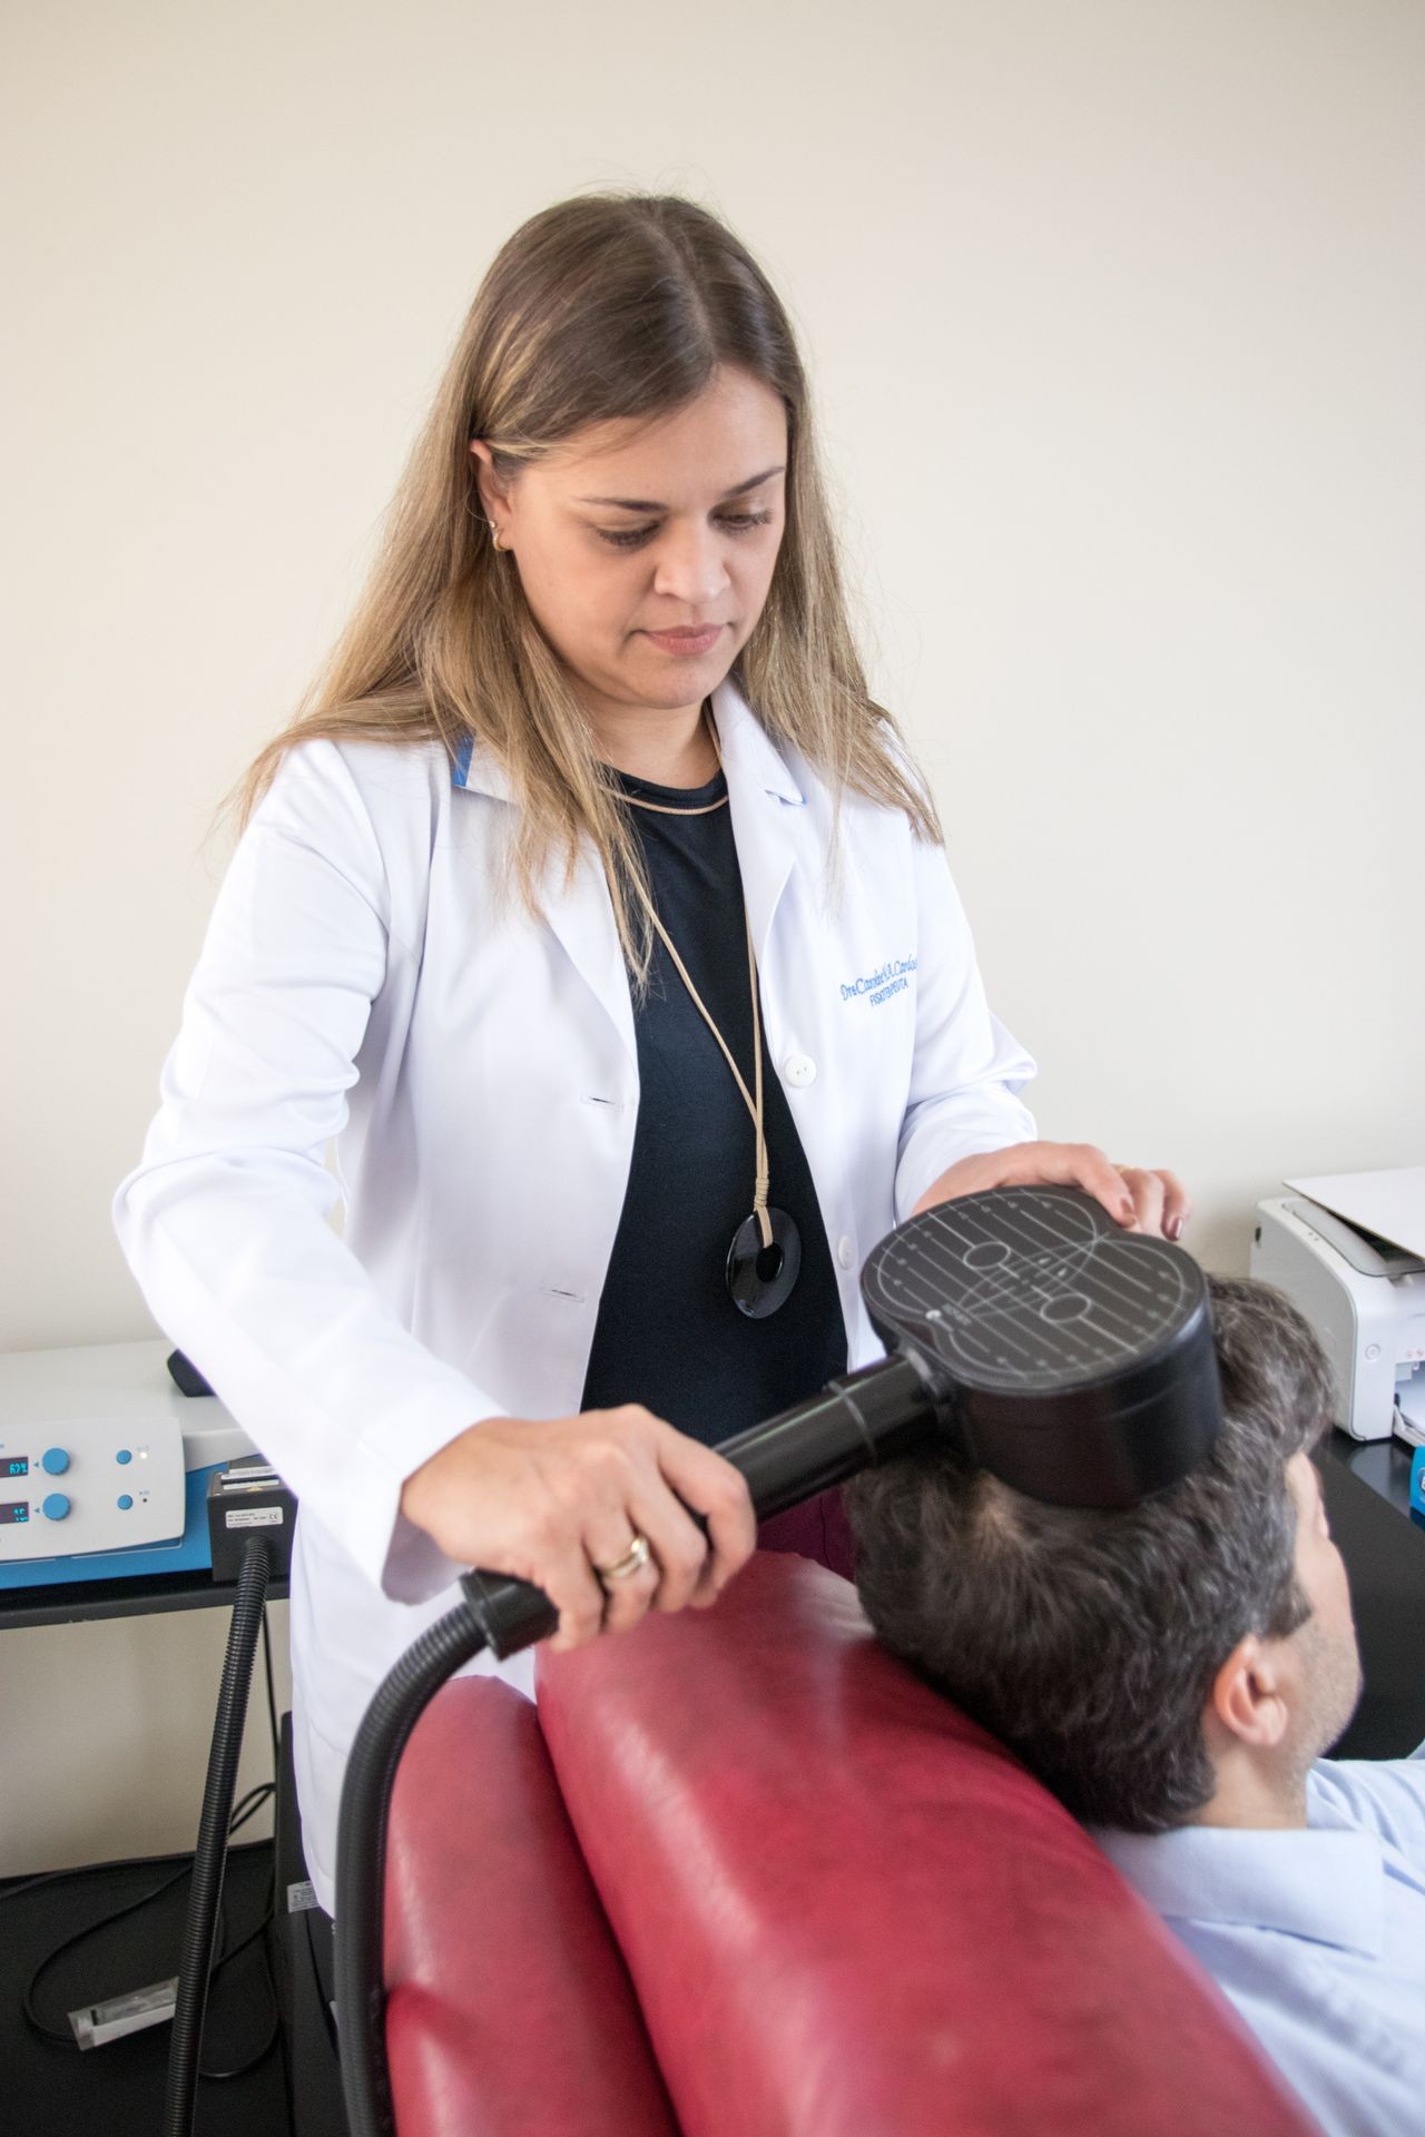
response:
<path fill-rule="evenodd" d="M 252 1440 L 214 1395 L 182 1393 L 167 1357 L 165 1342 L 0 1357 L 0 1590 L 212 1562 L 207 1485 Z"/>

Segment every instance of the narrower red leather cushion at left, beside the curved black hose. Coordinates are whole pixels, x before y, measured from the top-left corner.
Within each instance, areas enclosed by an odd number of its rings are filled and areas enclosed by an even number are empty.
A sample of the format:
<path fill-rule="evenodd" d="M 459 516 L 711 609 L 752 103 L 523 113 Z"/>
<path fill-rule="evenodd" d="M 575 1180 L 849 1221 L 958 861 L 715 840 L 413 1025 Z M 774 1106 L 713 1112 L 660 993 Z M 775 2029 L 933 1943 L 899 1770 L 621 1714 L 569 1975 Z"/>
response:
<path fill-rule="evenodd" d="M 391 1799 L 387 2058 L 400 2137 L 677 2137 L 534 1707 L 455 1678 Z"/>

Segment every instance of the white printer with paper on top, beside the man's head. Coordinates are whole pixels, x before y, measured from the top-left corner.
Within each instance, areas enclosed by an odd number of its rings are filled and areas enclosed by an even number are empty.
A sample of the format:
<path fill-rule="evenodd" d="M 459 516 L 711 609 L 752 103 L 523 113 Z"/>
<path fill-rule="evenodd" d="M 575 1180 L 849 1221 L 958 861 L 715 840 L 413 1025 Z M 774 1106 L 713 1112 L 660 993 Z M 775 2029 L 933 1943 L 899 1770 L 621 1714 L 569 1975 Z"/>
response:
<path fill-rule="evenodd" d="M 1307 1195 L 1278 1195 L 1256 1205 L 1252 1276 L 1284 1291 L 1316 1329 L 1335 1383 L 1333 1423 L 1357 1440 L 1395 1432 L 1425 1445 L 1425 1254 Z"/>

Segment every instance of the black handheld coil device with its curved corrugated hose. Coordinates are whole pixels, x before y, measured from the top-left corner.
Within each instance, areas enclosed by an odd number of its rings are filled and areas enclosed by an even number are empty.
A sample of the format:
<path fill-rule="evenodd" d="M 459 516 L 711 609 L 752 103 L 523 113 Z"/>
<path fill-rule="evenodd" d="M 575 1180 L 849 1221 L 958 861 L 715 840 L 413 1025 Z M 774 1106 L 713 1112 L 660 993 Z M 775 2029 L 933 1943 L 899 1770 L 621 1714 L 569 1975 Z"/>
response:
<path fill-rule="evenodd" d="M 718 1449 L 763 1519 L 936 1440 L 1032 1498 L 1130 1507 L 1218 1438 L 1203 1272 L 1164 1239 L 1119 1231 L 1075 1188 L 991 1188 L 927 1210 L 872 1252 L 861 1295 L 884 1361 Z M 476 1569 L 461 1590 L 376 1690 L 342 1789 L 335 1992 L 353 2137 L 393 2131 L 380 1951 L 402 1748 L 461 1663 L 485 1645 L 515 1654 L 558 1622 L 528 1581 Z"/>

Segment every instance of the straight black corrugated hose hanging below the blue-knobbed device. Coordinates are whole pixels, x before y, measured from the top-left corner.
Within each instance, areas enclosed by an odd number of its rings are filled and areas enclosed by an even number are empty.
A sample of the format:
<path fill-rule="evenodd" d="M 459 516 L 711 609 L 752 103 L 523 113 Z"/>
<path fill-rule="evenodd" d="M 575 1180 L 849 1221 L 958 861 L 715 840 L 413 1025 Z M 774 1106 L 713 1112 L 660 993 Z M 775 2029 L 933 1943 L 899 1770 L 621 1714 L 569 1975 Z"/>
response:
<path fill-rule="evenodd" d="M 214 1722 L 214 1744 L 207 1754 L 203 1814 L 199 1819 L 199 1844 L 192 1857 L 192 1887 L 188 1893 L 188 1919 L 184 1923 L 184 1957 L 177 1970 L 173 2034 L 169 2039 L 169 2077 L 162 2103 L 165 2137 L 190 2137 L 192 2131 L 203 2013 L 207 2009 L 207 1979 L 218 1936 L 218 1904 L 222 1900 L 222 1872 L 229 1853 L 237 1754 L 248 1716 L 256 1637 L 263 1626 L 263 1605 L 267 1601 L 267 1545 L 261 1537 L 252 1537 L 244 1549 L 237 1575 L 237 1601 L 233 1603 L 229 1645 L 222 1656 L 218 1718 Z"/>

